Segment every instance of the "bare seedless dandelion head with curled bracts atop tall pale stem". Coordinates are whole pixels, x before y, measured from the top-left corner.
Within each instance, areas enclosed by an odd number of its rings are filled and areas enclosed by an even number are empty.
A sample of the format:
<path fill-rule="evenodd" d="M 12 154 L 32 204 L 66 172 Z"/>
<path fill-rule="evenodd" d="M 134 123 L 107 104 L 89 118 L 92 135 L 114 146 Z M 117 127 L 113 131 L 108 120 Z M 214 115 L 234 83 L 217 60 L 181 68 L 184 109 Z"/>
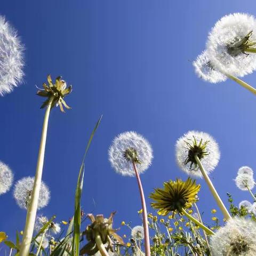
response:
<path fill-rule="evenodd" d="M 58 76 L 55 80 L 55 84 L 52 83 L 51 75 L 47 76 L 48 84 L 43 83 L 44 89 L 39 89 L 37 91 L 37 95 L 41 97 L 46 97 L 47 100 L 43 103 L 41 108 L 44 108 L 48 105 L 50 102 L 50 99 L 53 97 L 53 101 L 51 104 L 51 108 L 53 108 L 55 105 L 60 106 L 60 110 L 62 112 L 65 112 L 63 109 L 62 104 L 67 108 L 70 109 L 70 107 L 66 104 L 64 97 L 66 97 L 69 93 L 72 91 L 72 86 L 70 85 L 67 88 L 67 83 L 64 80 L 61 80 L 61 77 Z"/>

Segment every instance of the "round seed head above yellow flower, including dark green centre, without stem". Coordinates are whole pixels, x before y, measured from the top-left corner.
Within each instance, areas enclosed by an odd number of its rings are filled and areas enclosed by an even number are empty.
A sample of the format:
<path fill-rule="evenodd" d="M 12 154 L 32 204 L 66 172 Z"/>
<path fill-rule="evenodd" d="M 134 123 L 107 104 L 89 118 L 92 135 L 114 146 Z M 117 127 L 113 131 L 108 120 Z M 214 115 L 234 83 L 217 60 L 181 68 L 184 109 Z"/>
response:
<path fill-rule="evenodd" d="M 189 131 L 179 138 L 175 145 L 176 160 L 182 171 L 195 177 L 202 177 L 195 155 L 201 160 L 206 173 L 210 173 L 219 163 L 218 143 L 205 132 Z"/>

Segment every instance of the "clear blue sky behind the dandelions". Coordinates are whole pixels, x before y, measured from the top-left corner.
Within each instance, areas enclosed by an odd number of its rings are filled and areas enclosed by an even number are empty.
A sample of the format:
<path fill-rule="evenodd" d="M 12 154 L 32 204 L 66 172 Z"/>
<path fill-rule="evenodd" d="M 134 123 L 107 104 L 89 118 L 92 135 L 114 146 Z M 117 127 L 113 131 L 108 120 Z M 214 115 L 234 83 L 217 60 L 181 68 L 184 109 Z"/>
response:
<path fill-rule="evenodd" d="M 210 28 L 233 12 L 256 15 L 255 1 L 1 1 L 0 14 L 26 46 L 25 83 L 0 99 L 0 159 L 15 180 L 35 173 L 44 116 L 35 85 L 40 87 L 49 73 L 73 85 L 66 98 L 72 109 L 51 112 L 43 172 L 51 201 L 39 213 L 56 214 L 57 221 L 73 215 L 79 166 L 101 114 L 85 162 L 85 213 L 117 210 L 115 227 L 122 220 L 141 223 L 136 180 L 116 174 L 107 156 L 115 135 L 130 130 L 143 134 L 154 149 L 153 164 L 141 175 L 145 195 L 166 180 L 187 178 L 175 164 L 175 141 L 200 130 L 220 145 L 221 160 L 211 178 L 223 201 L 226 192 L 235 203 L 252 201 L 233 179 L 243 165 L 256 169 L 255 95 L 231 81 L 205 83 L 191 65 L 204 50 Z M 255 78 L 244 79 L 256 86 Z M 217 205 L 204 180 L 198 182 L 198 205 L 207 221 Z M 15 204 L 12 191 L 0 197 L 0 205 L 0 230 L 13 238 L 23 229 L 26 212 Z"/>

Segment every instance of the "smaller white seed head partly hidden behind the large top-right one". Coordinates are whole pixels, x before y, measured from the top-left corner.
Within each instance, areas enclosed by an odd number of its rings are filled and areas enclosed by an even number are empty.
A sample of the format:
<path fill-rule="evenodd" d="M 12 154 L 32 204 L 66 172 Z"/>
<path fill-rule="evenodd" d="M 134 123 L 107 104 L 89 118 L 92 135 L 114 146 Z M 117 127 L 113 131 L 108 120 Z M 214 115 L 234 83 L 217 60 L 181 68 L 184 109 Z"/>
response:
<path fill-rule="evenodd" d="M 193 61 L 193 66 L 195 67 L 197 76 L 206 82 L 215 84 L 227 80 L 227 76 L 213 68 L 207 51 L 203 51 L 197 56 L 196 60 Z"/>

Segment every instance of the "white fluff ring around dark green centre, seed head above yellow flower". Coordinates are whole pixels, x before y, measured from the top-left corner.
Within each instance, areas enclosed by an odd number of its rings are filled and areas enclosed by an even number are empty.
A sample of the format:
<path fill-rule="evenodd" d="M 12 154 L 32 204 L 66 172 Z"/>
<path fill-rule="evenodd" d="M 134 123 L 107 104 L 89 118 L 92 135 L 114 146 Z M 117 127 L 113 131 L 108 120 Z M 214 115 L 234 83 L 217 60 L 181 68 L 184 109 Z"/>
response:
<path fill-rule="evenodd" d="M 189 131 L 177 140 L 175 145 L 175 155 L 180 169 L 189 175 L 202 178 L 202 173 L 198 166 L 195 167 L 195 165 L 193 165 L 190 167 L 191 163 L 186 164 L 186 160 L 190 154 L 190 150 L 186 142 L 193 145 L 194 140 L 196 140 L 197 145 L 199 145 L 201 140 L 202 144 L 207 142 L 205 148 L 207 155 L 201 158 L 201 163 L 204 166 L 206 173 L 212 172 L 218 165 L 220 159 L 220 150 L 215 139 L 210 134 L 205 132 Z"/>

